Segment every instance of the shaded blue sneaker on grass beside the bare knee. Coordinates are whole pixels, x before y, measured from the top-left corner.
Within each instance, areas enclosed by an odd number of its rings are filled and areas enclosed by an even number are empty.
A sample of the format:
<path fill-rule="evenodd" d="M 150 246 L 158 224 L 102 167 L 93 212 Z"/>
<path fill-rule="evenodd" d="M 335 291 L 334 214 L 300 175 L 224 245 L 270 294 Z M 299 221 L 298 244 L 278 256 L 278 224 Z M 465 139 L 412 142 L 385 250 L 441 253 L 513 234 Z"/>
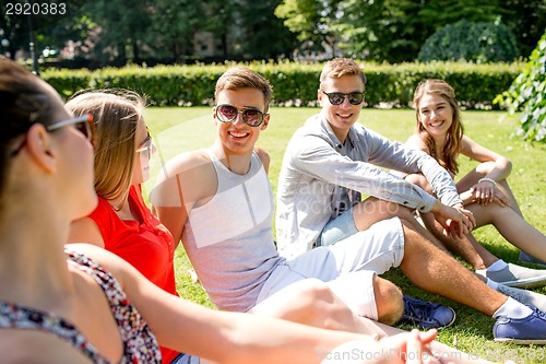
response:
<path fill-rule="evenodd" d="M 455 312 L 447 306 L 404 296 L 401 322 L 417 325 L 422 329 L 439 329 L 455 321 Z"/>

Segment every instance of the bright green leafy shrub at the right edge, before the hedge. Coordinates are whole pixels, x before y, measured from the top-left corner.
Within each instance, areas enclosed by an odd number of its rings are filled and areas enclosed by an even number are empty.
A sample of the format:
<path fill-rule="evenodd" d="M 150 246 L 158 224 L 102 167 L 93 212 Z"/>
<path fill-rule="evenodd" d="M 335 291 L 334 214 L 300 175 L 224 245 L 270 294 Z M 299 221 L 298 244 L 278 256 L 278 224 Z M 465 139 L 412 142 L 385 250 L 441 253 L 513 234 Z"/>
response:
<path fill-rule="evenodd" d="M 546 143 L 546 33 L 538 40 L 523 72 L 495 102 L 507 105 L 512 115 L 522 110 L 518 136 Z"/>

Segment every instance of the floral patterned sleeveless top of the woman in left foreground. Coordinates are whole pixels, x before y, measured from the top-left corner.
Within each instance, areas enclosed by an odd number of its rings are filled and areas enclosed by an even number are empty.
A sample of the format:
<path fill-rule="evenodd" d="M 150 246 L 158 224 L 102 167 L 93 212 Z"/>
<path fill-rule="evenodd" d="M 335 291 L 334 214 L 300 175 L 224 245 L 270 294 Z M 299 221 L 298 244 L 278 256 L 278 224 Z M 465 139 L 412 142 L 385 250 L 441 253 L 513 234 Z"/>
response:
<path fill-rule="evenodd" d="M 68 255 L 69 263 L 93 277 L 103 287 L 124 343 L 120 364 L 161 363 L 162 355 L 154 334 L 136 308 L 128 301 L 118 281 L 94 260 L 68 248 L 64 253 Z M 72 324 L 49 313 L 0 302 L 1 328 L 50 332 L 72 343 L 94 363 L 110 363 Z"/>

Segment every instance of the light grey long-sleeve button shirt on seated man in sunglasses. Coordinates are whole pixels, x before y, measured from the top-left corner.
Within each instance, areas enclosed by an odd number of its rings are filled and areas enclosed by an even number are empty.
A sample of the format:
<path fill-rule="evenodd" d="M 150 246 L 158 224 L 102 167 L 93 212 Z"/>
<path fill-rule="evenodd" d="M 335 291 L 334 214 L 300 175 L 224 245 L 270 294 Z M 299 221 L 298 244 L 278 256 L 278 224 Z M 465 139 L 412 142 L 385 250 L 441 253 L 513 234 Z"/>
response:
<path fill-rule="evenodd" d="M 283 157 L 275 221 L 281 255 L 289 259 L 312 248 L 324 225 L 342 212 L 343 189 L 345 196 L 353 190 L 423 212 L 432 209 L 432 196 L 380 167 L 420 172 L 442 203 L 462 202 L 451 176 L 426 153 L 359 124 L 351 128 L 343 145 L 318 114 L 294 133 Z"/>

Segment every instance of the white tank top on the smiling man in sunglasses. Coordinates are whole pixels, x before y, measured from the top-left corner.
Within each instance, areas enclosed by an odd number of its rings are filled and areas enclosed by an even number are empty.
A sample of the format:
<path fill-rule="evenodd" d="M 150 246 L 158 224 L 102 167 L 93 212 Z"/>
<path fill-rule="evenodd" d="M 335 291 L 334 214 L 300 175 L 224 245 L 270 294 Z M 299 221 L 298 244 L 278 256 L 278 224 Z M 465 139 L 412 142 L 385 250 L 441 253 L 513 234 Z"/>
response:
<path fill-rule="evenodd" d="M 211 301 L 223 310 L 247 312 L 284 261 L 273 242 L 273 191 L 256 153 L 246 175 L 234 174 L 207 153 L 218 189 L 188 213 L 182 242 Z"/>

